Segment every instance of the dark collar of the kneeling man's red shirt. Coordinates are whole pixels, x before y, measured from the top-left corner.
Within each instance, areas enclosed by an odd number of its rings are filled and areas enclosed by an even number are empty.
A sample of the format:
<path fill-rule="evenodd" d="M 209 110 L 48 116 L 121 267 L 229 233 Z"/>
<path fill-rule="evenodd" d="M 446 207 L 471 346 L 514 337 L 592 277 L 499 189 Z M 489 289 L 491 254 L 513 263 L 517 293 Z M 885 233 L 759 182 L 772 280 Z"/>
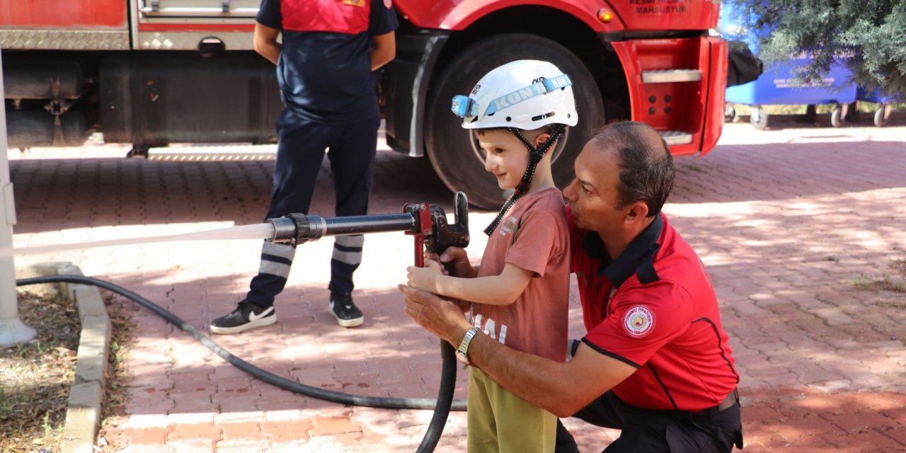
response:
<path fill-rule="evenodd" d="M 651 225 L 647 226 L 635 239 L 632 239 L 630 245 L 614 260 L 607 255 L 604 241 L 595 231 L 588 230 L 585 233 L 582 247 L 585 249 L 585 254 L 601 263 L 598 267 L 598 276 L 607 275 L 607 279 L 614 288 L 619 288 L 633 274 L 639 276 L 641 284 L 650 284 L 660 280 L 658 273 L 654 270 L 654 255 L 657 255 L 660 250 L 658 239 L 660 239 L 663 229 L 663 214 L 659 213 L 654 217 Z"/>

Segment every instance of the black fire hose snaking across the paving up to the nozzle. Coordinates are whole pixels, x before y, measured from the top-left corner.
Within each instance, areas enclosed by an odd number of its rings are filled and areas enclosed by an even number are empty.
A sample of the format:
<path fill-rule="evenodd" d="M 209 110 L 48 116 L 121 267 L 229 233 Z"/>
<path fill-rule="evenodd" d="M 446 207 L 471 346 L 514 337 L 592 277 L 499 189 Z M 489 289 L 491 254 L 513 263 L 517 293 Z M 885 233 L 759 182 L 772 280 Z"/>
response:
<path fill-rule="evenodd" d="M 50 275 L 23 278 L 15 281 L 16 286 L 51 283 L 92 284 L 99 288 L 120 294 L 166 319 L 169 323 L 175 324 L 189 335 L 195 337 L 196 340 L 204 344 L 207 349 L 216 353 L 220 358 L 232 363 L 236 368 L 246 371 L 255 378 L 284 390 L 290 390 L 294 393 L 299 393 L 318 400 L 332 401 L 349 406 L 363 406 L 378 409 L 434 410 L 434 416 L 431 418 L 428 430 L 425 432 L 425 437 L 421 440 L 421 444 L 417 450 L 419 453 L 434 451 L 434 448 L 437 446 L 440 439 L 440 434 L 443 432 L 444 424 L 447 422 L 447 416 L 450 410 L 466 410 L 466 401 L 453 400 L 453 391 L 456 389 L 456 367 L 458 361 L 453 346 L 450 346 L 448 342 L 440 342 L 440 355 L 443 359 L 443 367 L 441 371 L 442 375 L 440 378 L 438 400 L 430 400 L 427 398 L 381 398 L 352 395 L 341 391 L 324 390 L 300 382 L 290 381 L 286 378 L 277 376 L 270 371 L 262 370 L 255 365 L 236 357 L 236 355 L 233 355 L 231 352 L 226 351 L 226 349 L 220 347 L 217 342 L 207 338 L 203 333 L 198 332 L 198 329 L 192 327 L 191 324 L 179 319 L 177 315 L 169 313 L 158 304 L 154 304 L 148 299 L 139 294 L 135 294 L 122 286 L 82 275 Z M 451 376 L 452 379 L 450 379 Z"/>

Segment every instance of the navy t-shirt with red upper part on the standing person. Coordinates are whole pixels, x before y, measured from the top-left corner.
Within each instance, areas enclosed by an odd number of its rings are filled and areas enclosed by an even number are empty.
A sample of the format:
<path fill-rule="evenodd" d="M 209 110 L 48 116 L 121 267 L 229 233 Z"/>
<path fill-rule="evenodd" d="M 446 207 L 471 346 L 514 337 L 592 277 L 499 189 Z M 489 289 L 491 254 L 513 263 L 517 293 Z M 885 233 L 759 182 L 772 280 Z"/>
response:
<path fill-rule="evenodd" d="M 294 5 L 317 2 L 282 1 Z M 349 123 L 380 117 L 371 76 L 371 36 L 388 34 L 399 23 L 392 6 L 385 6 L 381 0 L 345 0 L 343 3 L 371 4 L 367 30 L 356 34 L 342 33 L 346 30 L 321 31 L 335 25 L 322 21 L 316 14 L 284 21 L 283 11 L 293 9 L 287 9 L 286 5 L 281 8 L 281 0 L 263 0 L 258 10 L 257 22 L 278 29 L 283 35 L 283 48 L 277 63 L 281 97 L 286 108 L 304 120 Z M 312 6 L 303 8 L 311 9 Z M 286 29 L 284 23 L 291 22 L 308 23 L 304 25 L 319 31 Z"/>

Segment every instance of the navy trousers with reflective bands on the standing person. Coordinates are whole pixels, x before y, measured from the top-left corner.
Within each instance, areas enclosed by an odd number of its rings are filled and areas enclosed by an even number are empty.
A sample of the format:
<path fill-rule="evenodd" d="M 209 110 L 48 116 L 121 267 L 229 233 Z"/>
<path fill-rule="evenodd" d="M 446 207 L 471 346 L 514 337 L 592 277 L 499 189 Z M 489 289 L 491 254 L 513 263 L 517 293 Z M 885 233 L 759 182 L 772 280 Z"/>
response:
<path fill-rule="evenodd" d="M 277 120 L 274 190 L 265 218 L 308 214 L 325 149 L 329 150 L 327 159 L 330 159 L 336 194 L 335 215 L 367 214 L 380 123 L 376 118 L 350 124 L 323 124 L 303 120 L 284 110 Z M 336 237 L 329 284 L 332 292 L 352 292 L 352 273 L 361 263 L 362 243 L 362 236 Z M 273 305 L 275 295 L 284 289 L 294 253 L 291 246 L 265 241 L 258 275 L 252 279 L 246 300 L 265 307 Z"/>

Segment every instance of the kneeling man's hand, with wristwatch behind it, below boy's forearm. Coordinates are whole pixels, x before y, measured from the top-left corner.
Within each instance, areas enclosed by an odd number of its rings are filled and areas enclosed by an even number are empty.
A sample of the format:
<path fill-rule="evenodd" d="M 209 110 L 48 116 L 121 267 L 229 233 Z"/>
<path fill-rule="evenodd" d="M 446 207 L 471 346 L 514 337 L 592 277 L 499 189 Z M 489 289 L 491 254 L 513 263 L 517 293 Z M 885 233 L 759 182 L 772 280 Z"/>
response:
<path fill-rule="evenodd" d="M 462 315 L 462 310 L 457 304 L 405 284 L 398 287 L 406 296 L 405 312 L 410 318 L 428 332 L 452 344 L 454 348 L 459 346 L 462 337 L 472 325 Z"/>

